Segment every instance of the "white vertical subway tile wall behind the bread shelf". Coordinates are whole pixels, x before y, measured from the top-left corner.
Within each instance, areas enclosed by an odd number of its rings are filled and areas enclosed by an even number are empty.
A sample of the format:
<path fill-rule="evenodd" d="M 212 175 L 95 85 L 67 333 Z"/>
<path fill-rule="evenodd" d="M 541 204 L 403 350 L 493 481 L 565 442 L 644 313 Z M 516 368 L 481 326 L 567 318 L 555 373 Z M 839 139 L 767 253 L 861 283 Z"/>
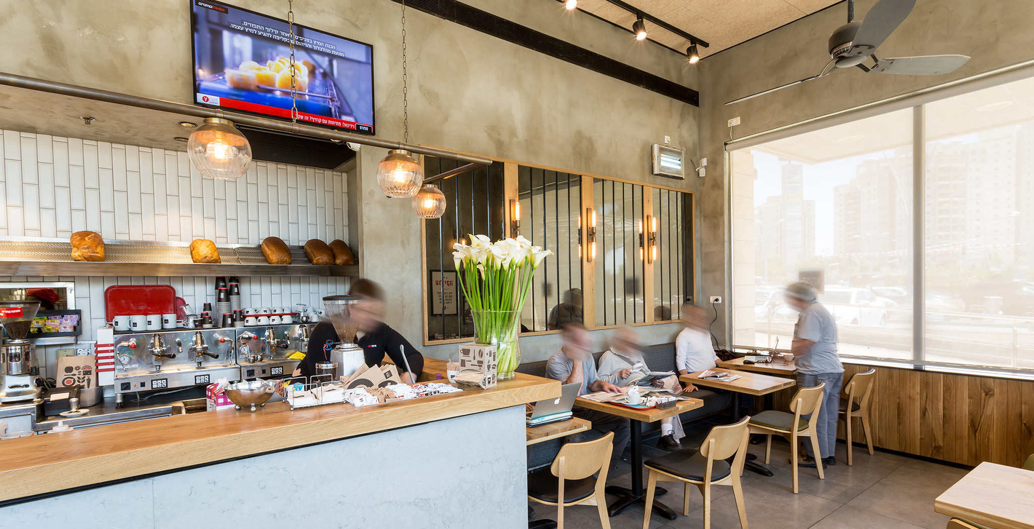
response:
<path fill-rule="evenodd" d="M 2 131 L 0 236 L 67 238 L 97 231 L 105 240 L 287 244 L 309 239 L 347 241 L 343 173 L 252 162 L 235 181 L 204 178 L 186 153 L 127 145 Z M 3 274 L 3 271 L 0 271 Z M 170 284 L 197 310 L 214 302 L 212 277 L 18 277 L 9 281 L 74 281 L 83 310 L 82 341 L 104 323 L 104 288 Z M 241 278 L 245 307 L 318 307 L 324 295 L 347 290 L 345 278 Z M 40 347 L 53 365 L 57 348 Z"/>

